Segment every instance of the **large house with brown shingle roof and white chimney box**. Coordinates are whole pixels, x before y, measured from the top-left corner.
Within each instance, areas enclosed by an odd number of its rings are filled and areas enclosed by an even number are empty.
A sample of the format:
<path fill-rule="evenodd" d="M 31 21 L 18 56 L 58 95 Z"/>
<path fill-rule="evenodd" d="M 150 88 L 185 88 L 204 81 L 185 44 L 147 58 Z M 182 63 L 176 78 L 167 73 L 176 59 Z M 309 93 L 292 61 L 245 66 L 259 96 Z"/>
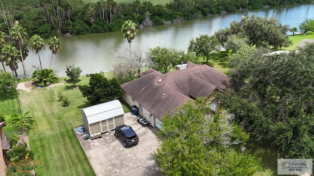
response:
<path fill-rule="evenodd" d="M 176 107 L 199 96 L 209 97 L 212 92 L 225 90 L 229 77 L 208 65 L 188 62 L 176 66 L 177 70 L 162 74 L 149 69 L 140 78 L 121 85 L 122 98 L 141 114 L 153 127 L 160 128 L 161 117 L 173 113 Z M 212 110 L 217 102 L 211 101 Z"/>

